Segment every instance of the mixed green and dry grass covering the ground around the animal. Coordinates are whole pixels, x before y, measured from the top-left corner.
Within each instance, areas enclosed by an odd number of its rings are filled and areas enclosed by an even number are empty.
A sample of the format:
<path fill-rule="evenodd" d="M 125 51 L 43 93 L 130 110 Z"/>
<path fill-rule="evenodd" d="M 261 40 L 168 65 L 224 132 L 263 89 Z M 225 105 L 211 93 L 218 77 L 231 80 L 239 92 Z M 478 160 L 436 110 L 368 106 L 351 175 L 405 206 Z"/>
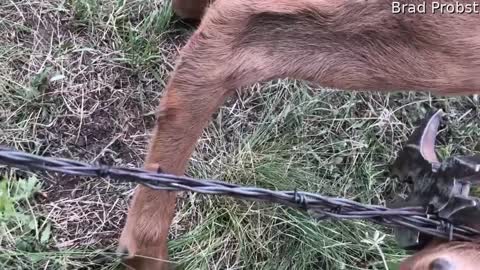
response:
<path fill-rule="evenodd" d="M 170 3 L 7 1 L 0 18 L 0 144 L 140 167 L 191 32 Z M 188 174 L 384 204 L 403 192 L 388 165 L 431 107 L 448 113 L 442 156 L 480 152 L 476 97 L 255 85 L 214 116 Z M 0 170 L 0 268 L 120 264 L 112 252 L 133 185 Z M 405 256 L 388 228 L 199 194 L 181 196 L 170 236 L 180 269 L 387 269 Z"/>

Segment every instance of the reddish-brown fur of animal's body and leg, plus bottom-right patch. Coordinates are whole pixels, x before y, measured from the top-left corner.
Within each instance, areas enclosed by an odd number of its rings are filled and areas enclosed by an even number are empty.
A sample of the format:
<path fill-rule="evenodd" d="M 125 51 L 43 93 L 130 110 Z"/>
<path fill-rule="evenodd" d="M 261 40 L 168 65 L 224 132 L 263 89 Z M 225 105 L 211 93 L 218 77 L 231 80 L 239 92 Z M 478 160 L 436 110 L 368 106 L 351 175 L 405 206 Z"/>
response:
<path fill-rule="evenodd" d="M 201 17 L 207 2 L 173 1 L 177 14 L 188 18 Z M 212 113 L 234 89 L 259 81 L 289 77 L 344 90 L 480 92 L 480 15 L 393 15 L 390 4 L 214 2 L 181 51 L 160 103 L 145 167 L 183 174 Z M 120 238 L 120 250 L 128 252 L 126 262 L 134 269 L 167 269 L 175 197 L 174 192 L 137 187 Z M 428 269 L 410 266 L 428 265 L 435 254 L 458 254 L 450 247 L 427 249 L 402 269 Z"/>

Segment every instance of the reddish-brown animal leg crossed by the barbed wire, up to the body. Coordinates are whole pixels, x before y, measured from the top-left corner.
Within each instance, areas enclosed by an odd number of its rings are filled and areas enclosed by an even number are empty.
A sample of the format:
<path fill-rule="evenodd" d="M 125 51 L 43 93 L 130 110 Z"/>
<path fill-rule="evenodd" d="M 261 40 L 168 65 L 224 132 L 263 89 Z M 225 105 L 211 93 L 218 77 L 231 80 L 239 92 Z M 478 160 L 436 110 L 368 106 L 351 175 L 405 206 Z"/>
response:
<path fill-rule="evenodd" d="M 265 77 L 232 50 L 224 51 L 223 37 L 215 36 L 215 28 L 201 29 L 183 48 L 161 100 L 145 161 L 149 170 L 183 174 L 212 113 L 232 90 Z M 128 253 L 128 266 L 167 269 L 167 236 L 175 198 L 175 192 L 137 187 L 120 238 L 119 251 Z"/>

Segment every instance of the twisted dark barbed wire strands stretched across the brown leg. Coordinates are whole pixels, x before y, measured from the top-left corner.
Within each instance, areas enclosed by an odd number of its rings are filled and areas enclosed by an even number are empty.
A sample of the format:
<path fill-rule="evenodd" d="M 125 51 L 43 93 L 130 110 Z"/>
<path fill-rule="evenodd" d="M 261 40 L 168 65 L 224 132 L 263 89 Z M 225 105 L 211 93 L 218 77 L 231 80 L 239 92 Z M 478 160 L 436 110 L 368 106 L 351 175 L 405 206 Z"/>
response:
<path fill-rule="evenodd" d="M 475 241 L 475 238 L 480 236 L 480 231 L 463 225 L 454 226 L 448 220 L 426 213 L 423 207 L 390 209 L 310 192 L 274 191 L 217 180 L 200 180 L 186 176 L 154 173 L 138 168 L 92 165 L 64 158 L 42 157 L 2 146 L 0 146 L 0 164 L 25 170 L 46 170 L 66 175 L 104 177 L 116 181 L 135 182 L 156 190 L 192 191 L 278 203 L 307 211 L 317 219 L 363 219 L 389 227 L 406 227 L 449 240 Z"/>

